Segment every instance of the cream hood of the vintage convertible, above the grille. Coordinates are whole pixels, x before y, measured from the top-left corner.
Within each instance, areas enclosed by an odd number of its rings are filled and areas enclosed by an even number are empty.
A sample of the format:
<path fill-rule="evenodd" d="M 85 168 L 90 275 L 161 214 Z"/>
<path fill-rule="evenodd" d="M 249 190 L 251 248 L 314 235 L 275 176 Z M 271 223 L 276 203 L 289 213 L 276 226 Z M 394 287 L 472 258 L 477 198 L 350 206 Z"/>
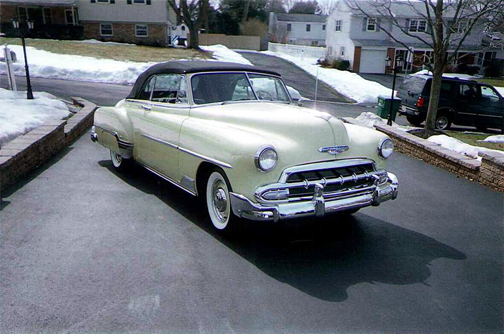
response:
<path fill-rule="evenodd" d="M 319 148 L 349 145 L 347 130 L 339 119 L 289 104 L 228 103 L 193 108 L 193 116 L 261 137 L 264 144 L 277 149 L 279 165 L 283 166 L 334 159 L 333 155 L 319 152 Z"/>

